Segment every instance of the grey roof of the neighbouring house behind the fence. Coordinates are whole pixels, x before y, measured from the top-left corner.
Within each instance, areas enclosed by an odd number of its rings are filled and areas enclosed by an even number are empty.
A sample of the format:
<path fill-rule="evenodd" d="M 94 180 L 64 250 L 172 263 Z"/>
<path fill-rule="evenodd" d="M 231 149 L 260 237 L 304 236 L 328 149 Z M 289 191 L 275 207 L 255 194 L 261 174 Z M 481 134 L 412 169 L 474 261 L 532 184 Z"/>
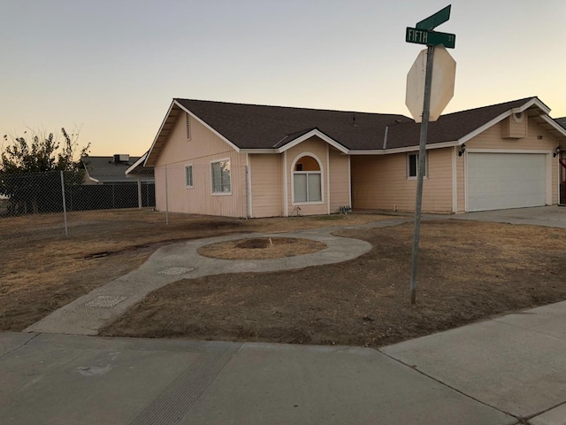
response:
<path fill-rule="evenodd" d="M 122 157 L 124 159 L 119 160 L 116 157 Z M 80 158 L 87 170 L 88 180 L 96 183 L 132 182 L 133 180 L 126 176 L 126 170 L 138 159 L 140 159 L 140 157 L 130 157 L 128 155 L 114 155 L 111 157 L 88 156 Z M 142 180 L 153 181 L 153 175 L 148 179 Z"/>

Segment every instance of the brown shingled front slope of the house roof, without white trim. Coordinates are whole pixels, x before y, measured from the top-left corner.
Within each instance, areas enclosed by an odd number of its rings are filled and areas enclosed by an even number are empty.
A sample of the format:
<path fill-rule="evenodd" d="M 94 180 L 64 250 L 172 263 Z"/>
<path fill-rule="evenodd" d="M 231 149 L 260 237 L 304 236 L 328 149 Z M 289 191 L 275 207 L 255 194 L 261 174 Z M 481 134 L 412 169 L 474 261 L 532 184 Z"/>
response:
<path fill-rule="evenodd" d="M 532 97 L 442 115 L 429 124 L 428 144 L 455 142 Z M 417 146 L 420 125 L 398 114 L 343 112 L 174 99 L 241 149 L 280 148 L 317 128 L 351 151 Z"/>

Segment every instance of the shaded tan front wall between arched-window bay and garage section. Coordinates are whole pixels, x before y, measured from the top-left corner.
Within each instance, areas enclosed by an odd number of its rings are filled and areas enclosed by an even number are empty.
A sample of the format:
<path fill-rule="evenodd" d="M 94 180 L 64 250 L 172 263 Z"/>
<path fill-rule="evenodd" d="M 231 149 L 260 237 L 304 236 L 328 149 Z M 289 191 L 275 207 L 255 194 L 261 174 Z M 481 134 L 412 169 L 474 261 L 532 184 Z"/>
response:
<path fill-rule="evenodd" d="M 356 209 L 415 211 L 417 179 L 408 179 L 407 153 L 352 156 L 352 204 Z M 452 213 L 452 148 L 427 151 L 423 212 Z"/>

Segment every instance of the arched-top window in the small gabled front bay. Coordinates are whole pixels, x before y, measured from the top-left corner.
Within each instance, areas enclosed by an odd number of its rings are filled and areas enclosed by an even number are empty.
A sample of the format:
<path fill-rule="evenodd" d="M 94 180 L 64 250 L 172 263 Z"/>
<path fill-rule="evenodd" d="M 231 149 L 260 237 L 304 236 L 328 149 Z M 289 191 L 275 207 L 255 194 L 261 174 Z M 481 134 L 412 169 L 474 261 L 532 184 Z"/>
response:
<path fill-rule="evenodd" d="M 293 201 L 322 202 L 322 173 L 315 158 L 302 157 L 293 170 Z"/>

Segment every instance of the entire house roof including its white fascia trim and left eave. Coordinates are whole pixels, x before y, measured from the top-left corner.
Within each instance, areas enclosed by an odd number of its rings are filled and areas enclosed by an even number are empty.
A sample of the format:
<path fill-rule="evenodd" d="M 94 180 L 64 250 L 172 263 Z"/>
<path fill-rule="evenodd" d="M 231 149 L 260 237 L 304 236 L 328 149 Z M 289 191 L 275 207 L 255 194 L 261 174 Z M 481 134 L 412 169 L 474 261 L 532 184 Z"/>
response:
<path fill-rule="evenodd" d="M 538 97 L 525 97 L 468 111 L 448 113 L 429 124 L 427 146 L 462 144 L 513 112 L 529 111 L 548 131 L 566 132 L 547 116 Z M 532 111 L 532 112 L 531 112 Z M 394 153 L 417 148 L 420 124 L 399 114 L 331 111 L 175 98 L 145 165 L 153 165 L 180 116 L 187 112 L 236 151 L 281 152 L 311 135 L 349 154 Z M 541 117 L 541 118 L 538 118 Z"/>

